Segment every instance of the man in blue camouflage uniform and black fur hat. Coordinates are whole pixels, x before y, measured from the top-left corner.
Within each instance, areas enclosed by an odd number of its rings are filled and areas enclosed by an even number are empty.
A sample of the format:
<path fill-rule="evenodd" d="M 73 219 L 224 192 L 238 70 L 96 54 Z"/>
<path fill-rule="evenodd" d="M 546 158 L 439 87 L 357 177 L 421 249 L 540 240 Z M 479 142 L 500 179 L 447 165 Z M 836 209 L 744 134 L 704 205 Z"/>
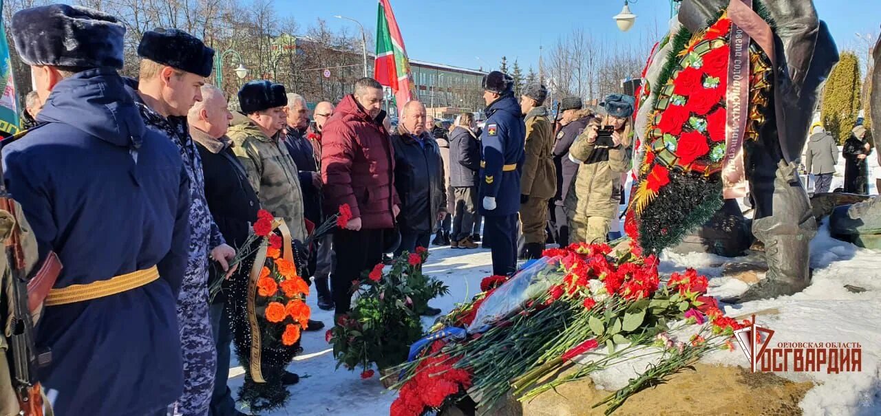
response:
<path fill-rule="evenodd" d="M 159 28 L 144 33 L 137 55 L 143 58 L 139 84 L 137 91 L 130 93 L 147 128 L 166 135 L 176 145 L 189 178 L 189 259 L 177 303 L 184 383 L 177 410 L 183 416 L 202 416 L 211 403 L 217 370 L 206 302 L 209 259 L 226 271 L 227 261 L 235 255 L 205 200 L 202 157 L 187 124 L 190 107 L 202 100 L 202 86 L 204 78 L 211 75 L 214 50 L 189 33 Z"/>

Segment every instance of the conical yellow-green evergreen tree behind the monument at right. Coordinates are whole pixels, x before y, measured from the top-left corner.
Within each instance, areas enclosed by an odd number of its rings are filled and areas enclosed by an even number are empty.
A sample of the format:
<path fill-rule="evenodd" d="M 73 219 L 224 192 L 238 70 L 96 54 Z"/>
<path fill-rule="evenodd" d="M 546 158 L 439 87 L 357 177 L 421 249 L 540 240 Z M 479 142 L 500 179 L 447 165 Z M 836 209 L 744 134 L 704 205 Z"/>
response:
<path fill-rule="evenodd" d="M 848 140 L 860 113 L 862 90 L 860 65 L 853 52 L 842 52 L 840 61 L 832 70 L 823 88 L 821 119 L 823 127 L 840 144 Z"/>

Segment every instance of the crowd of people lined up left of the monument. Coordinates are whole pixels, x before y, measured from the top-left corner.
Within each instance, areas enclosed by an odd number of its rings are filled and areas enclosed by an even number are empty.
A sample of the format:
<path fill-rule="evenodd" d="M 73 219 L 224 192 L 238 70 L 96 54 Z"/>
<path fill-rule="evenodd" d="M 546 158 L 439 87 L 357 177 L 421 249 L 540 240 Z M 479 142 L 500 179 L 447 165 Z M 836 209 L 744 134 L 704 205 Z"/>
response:
<path fill-rule="evenodd" d="M 515 97 L 513 78 L 492 71 L 483 128 L 473 113 L 444 128 L 412 100 L 392 129 L 368 77 L 311 112 L 285 85 L 250 81 L 233 112 L 205 84 L 214 51 L 202 40 L 145 32 L 131 79 L 118 73 L 124 32 L 118 18 L 64 4 L 11 19 L 35 89 L 33 125 L 3 142 L 4 180 L 40 258 L 63 264 L 35 339 L 53 354 L 39 376 L 56 414 L 242 414 L 226 387 L 233 312 L 208 287 L 248 279 L 233 247 L 260 209 L 303 242 L 351 208 L 308 249 L 317 304 L 337 316 L 362 271 L 433 236 L 455 249 L 482 240 L 493 274 L 508 275 L 548 241 L 605 241 L 617 219 L 631 97 L 607 98 L 603 117 L 564 99 L 557 120 L 543 85 Z"/>

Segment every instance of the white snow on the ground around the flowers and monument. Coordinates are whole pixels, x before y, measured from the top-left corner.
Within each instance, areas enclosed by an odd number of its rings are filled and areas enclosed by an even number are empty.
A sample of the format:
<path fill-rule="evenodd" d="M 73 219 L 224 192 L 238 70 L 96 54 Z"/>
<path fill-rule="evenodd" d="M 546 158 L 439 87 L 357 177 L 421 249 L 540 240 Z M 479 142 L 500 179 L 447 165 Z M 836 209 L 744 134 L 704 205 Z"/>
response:
<path fill-rule="evenodd" d="M 877 158 L 869 157 L 870 170 L 881 172 Z M 844 182 L 844 162 L 840 159 L 838 172 L 833 177 L 831 190 Z M 870 192 L 877 193 L 875 175 L 870 174 Z M 811 179 L 812 182 L 812 179 Z M 629 183 L 626 189 L 629 190 Z M 812 381 L 818 386 L 808 392 L 801 403 L 805 415 L 881 414 L 881 256 L 878 252 L 860 249 L 829 236 L 824 223 L 811 243 L 811 286 L 802 293 L 740 305 L 726 305 L 729 316 L 746 318 L 757 314 L 758 324 L 773 329 L 776 342 L 859 342 L 862 346 L 862 372 L 827 375 L 823 373 L 778 373 L 795 381 Z M 737 259 L 725 259 L 703 253 L 686 255 L 665 253 L 660 271 L 670 274 L 686 266 L 698 269 L 710 278 L 710 294 L 727 297 L 740 294 L 748 288 L 743 281 L 722 277 L 722 266 L 729 262 L 762 264 L 762 254 Z M 488 250 L 453 250 L 433 247 L 426 263 L 426 272 L 445 281 L 450 294 L 436 299 L 432 305 L 444 313 L 455 303 L 469 300 L 479 291 L 480 280 L 492 274 Z M 844 285 L 865 288 L 862 293 L 851 293 Z M 308 303 L 313 319 L 332 325 L 333 312 L 318 309 L 315 296 Z M 427 328 L 433 318 L 424 318 Z M 290 388 L 291 404 L 286 409 L 263 416 L 300 415 L 359 415 L 384 416 L 396 398 L 385 391 L 378 377 L 361 380 L 359 371 L 335 369 L 336 361 L 321 332 L 304 332 L 304 353 L 291 364 L 290 370 L 303 378 Z M 234 357 L 234 355 L 233 355 Z M 719 351 L 704 361 L 724 365 L 748 367 L 744 354 Z M 633 376 L 633 371 L 644 368 L 646 362 L 634 361 L 618 369 L 596 375 L 597 383 L 607 387 L 621 387 Z M 244 370 L 233 363 L 229 386 L 233 396 L 241 386 Z M 616 388 L 617 388 L 616 387 Z M 247 412 L 247 409 L 243 409 Z"/>

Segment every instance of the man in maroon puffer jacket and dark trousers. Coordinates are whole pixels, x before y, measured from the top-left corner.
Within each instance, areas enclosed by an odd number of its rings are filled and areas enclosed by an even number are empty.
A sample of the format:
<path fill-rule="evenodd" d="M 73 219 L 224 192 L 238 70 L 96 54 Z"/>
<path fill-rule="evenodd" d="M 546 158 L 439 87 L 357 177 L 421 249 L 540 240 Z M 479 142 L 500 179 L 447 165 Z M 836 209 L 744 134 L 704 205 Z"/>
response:
<path fill-rule="evenodd" d="M 395 228 L 401 200 L 395 191 L 395 155 L 382 127 L 382 86 L 373 78 L 355 83 L 324 126 L 322 179 L 325 212 L 343 204 L 352 220 L 333 237 L 337 269 L 331 291 L 337 317 L 352 303 L 352 281 L 382 260 L 384 236 Z M 384 114 L 384 113 L 382 113 Z"/>

